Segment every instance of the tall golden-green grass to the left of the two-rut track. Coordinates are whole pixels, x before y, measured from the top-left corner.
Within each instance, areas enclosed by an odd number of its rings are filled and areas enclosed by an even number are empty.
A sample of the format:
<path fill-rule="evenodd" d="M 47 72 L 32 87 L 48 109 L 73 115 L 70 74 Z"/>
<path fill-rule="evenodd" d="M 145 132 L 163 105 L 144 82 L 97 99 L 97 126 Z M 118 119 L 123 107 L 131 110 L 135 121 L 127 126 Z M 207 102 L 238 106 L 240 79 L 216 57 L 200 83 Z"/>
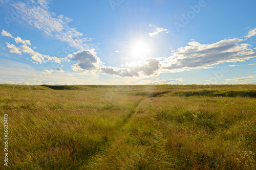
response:
<path fill-rule="evenodd" d="M 2 88 L 0 112 L 9 117 L 8 168 L 77 169 L 86 163 L 125 123 L 141 99 L 116 93 L 106 100 L 108 93 L 90 88 Z"/>

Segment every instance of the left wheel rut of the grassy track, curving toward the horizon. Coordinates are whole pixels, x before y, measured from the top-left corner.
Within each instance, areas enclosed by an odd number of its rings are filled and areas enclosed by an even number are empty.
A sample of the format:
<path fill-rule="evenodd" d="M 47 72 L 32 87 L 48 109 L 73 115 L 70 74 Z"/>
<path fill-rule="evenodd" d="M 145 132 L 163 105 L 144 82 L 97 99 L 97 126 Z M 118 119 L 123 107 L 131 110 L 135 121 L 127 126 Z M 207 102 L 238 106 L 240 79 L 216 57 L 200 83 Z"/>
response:
<path fill-rule="evenodd" d="M 100 165 L 102 159 L 108 154 L 111 144 L 118 138 L 120 133 L 122 133 L 124 131 L 126 125 L 129 124 L 131 118 L 136 113 L 137 107 L 144 99 L 140 99 L 138 101 L 138 103 L 135 106 L 135 109 L 132 110 L 132 112 L 127 116 L 127 118 L 124 119 L 123 125 L 117 130 L 114 137 L 112 139 L 110 139 L 108 142 L 106 142 L 103 145 L 103 147 L 100 149 L 100 151 L 98 151 L 95 155 L 91 156 L 91 158 L 89 160 L 84 161 L 83 165 L 79 169 L 98 169 L 98 166 Z"/>

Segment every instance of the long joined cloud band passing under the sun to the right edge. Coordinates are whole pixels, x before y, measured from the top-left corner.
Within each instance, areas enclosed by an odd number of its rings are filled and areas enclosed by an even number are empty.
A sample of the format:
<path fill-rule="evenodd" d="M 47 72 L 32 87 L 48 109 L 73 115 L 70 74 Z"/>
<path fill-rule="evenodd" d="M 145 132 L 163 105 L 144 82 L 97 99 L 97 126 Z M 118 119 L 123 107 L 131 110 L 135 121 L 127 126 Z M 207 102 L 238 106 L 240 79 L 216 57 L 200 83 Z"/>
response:
<path fill-rule="evenodd" d="M 72 66 L 74 71 L 107 74 L 116 77 L 152 77 L 161 72 L 177 72 L 199 68 L 212 68 L 224 62 L 241 62 L 256 57 L 249 44 L 238 44 L 242 39 L 225 39 L 212 44 L 189 42 L 188 46 L 178 48 L 167 58 L 148 58 L 144 63 L 125 63 L 118 68 L 105 66 L 93 51 L 78 51 L 70 55 L 78 64 Z M 234 65 L 229 65 L 234 66 Z M 239 66 L 239 65 L 236 65 Z"/>

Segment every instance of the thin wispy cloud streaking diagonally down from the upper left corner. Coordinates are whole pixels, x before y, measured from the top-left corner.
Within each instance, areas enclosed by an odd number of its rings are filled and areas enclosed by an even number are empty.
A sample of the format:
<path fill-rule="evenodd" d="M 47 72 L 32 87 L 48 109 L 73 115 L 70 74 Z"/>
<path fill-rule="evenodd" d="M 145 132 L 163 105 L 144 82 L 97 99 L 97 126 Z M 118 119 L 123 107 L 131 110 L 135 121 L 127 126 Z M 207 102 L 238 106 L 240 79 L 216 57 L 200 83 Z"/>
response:
<path fill-rule="evenodd" d="M 47 0 L 38 0 L 36 2 L 2 2 L 6 6 L 11 6 L 18 11 L 20 16 L 19 22 L 24 22 L 24 25 L 30 25 L 40 31 L 45 32 L 50 37 L 67 42 L 69 45 L 80 50 L 91 48 L 90 44 L 85 43 L 91 41 L 91 38 L 84 35 L 69 26 L 71 18 L 49 11 L 49 2 Z"/>

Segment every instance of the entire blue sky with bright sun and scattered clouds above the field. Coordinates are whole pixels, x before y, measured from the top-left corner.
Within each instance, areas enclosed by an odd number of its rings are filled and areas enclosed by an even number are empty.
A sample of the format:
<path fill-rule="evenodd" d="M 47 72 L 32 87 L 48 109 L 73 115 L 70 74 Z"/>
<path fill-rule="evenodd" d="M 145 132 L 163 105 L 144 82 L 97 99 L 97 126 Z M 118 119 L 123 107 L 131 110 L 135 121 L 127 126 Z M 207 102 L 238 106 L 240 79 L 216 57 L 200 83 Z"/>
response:
<path fill-rule="evenodd" d="M 0 0 L 0 84 L 256 84 L 254 0 Z"/>

